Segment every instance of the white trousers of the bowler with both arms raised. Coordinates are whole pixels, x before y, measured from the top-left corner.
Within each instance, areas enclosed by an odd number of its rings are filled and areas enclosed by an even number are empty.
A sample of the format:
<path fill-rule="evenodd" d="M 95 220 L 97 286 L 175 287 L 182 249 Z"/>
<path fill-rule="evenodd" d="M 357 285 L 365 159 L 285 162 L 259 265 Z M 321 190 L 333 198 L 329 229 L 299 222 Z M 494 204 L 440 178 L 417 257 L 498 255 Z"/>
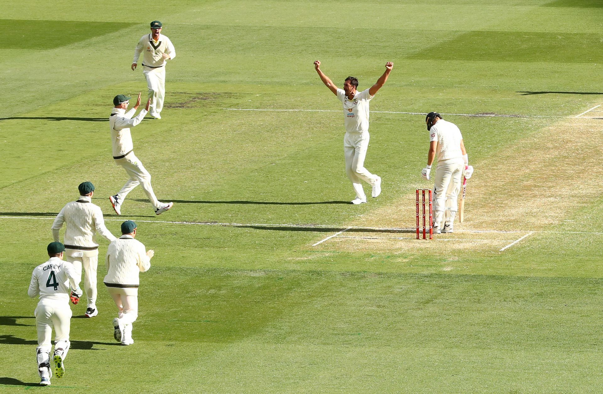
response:
<path fill-rule="evenodd" d="M 343 151 L 346 157 L 346 174 L 352 181 L 356 197 L 366 198 L 361 180 L 369 185 L 377 182 L 377 176 L 364 168 L 364 159 L 367 156 L 368 141 L 370 136 L 365 133 L 347 133 L 343 138 Z"/>

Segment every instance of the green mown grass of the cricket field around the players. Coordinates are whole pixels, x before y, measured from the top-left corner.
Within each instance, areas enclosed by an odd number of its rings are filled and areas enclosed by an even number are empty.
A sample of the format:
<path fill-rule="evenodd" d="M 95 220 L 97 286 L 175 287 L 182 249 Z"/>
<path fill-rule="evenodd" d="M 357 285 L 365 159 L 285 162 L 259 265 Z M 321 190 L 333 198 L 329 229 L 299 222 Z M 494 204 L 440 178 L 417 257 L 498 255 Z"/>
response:
<path fill-rule="evenodd" d="M 572 116 L 603 102 L 603 3 L 8 1 L 0 10 L 0 392 L 603 391 L 603 175 L 597 154 L 569 148 L 585 135 L 601 144 L 600 120 Z M 157 197 L 175 205 L 156 217 L 138 188 L 117 217 L 108 197 L 125 172 L 111 159 L 107 119 L 116 94 L 145 94 L 130 64 L 154 19 L 177 57 L 163 119 L 145 119 L 133 139 Z M 340 110 L 317 59 L 336 84 L 355 75 L 359 89 L 394 62 L 371 101 L 365 166 L 384 183 L 368 204 L 348 203 L 340 112 L 227 110 Z M 431 110 L 527 115 L 446 116 L 476 170 L 459 240 L 350 229 L 313 246 L 350 226 L 414 227 L 414 189 L 432 185 L 420 177 L 428 133 L 423 116 L 392 112 Z M 564 141 L 555 167 L 575 167 L 563 176 L 537 160 L 543 135 Z M 519 153 L 496 162 L 508 152 Z M 576 165 L 581 155 L 587 164 Z M 500 192 L 488 191 L 500 165 Z M 136 220 L 156 255 L 140 275 L 134 345 L 113 341 L 101 263 L 99 315 L 78 318 L 84 300 L 72 307 L 66 375 L 42 389 L 27 287 L 52 219 L 83 180 L 113 234 Z M 505 200 L 518 190 L 528 211 L 543 209 L 522 216 Z"/>

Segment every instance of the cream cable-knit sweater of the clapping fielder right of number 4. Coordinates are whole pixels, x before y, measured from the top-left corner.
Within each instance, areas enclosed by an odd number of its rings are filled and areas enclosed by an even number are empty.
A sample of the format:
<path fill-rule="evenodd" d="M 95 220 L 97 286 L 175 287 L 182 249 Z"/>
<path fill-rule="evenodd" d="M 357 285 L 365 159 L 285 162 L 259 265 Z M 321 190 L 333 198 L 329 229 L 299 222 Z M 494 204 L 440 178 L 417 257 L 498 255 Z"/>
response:
<path fill-rule="evenodd" d="M 141 242 L 131 235 L 122 235 L 109 244 L 105 266 L 107 275 L 103 281 L 107 287 L 138 287 L 138 275 L 151 268 L 151 258 Z"/>

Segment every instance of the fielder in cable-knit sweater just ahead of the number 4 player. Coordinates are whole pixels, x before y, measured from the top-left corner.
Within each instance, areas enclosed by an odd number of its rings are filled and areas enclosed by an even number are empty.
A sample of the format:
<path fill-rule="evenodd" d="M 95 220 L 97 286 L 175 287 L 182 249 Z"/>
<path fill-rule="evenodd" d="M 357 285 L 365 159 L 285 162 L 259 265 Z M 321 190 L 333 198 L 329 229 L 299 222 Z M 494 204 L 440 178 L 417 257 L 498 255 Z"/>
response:
<path fill-rule="evenodd" d="M 107 227 L 103 218 L 101 208 L 92 203 L 94 185 L 90 182 L 82 182 L 78 186 L 80 198 L 67 203 L 58 212 L 52 223 L 52 238 L 59 241 L 59 230 L 66 223 L 65 230 L 65 257 L 71 262 L 81 282 L 81 268 L 84 266 L 84 289 L 88 305 L 86 317 L 94 317 L 98 314 L 96 308 L 96 269 L 98 268 L 98 244 L 95 240 L 96 232 L 106 238 L 109 242 L 115 240 L 113 234 Z"/>

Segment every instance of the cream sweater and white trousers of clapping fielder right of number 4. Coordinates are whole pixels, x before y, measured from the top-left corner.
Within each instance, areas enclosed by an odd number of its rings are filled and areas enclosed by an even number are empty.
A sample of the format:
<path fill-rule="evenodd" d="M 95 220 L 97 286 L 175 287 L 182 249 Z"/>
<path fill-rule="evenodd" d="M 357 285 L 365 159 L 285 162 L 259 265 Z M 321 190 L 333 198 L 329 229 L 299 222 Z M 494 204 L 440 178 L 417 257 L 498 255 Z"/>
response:
<path fill-rule="evenodd" d="M 134 240 L 131 235 L 122 235 L 109 244 L 104 284 L 119 310 L 116 320 L 123 334 L 121 338 L 116 337 L 116 340 L 120 340 L 122 345 L 134 343 L 132 323 L 138 317 L 139 273 L 148 271 L 151 267 L 150 260 L 144 244 Z"/>

